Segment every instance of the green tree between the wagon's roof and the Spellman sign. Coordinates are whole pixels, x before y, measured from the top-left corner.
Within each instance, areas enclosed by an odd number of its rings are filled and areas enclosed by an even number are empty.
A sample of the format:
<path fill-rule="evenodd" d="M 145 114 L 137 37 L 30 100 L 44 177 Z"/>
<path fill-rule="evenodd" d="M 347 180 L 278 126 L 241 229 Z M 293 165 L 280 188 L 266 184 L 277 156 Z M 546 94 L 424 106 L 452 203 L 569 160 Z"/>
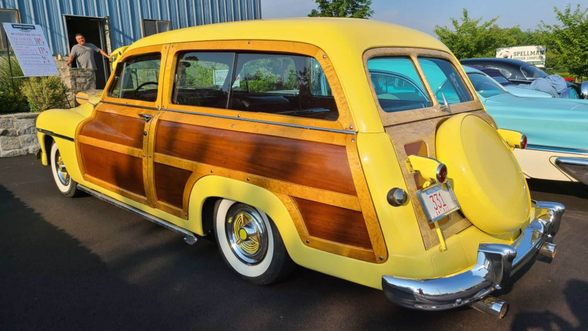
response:
<path fill-rule="evenodd" d="M 505 31 L 495 24 L 498 17 L 482 22 L 482 17 L 470 18 L 466 8 L 462 13 L 461 23 L 456 18 L 450 18 L 453 29 L 435 25 L 435 34 L 439 40 L 449 47 L 458 59 L 494 57 L 497 45 L 502 44 L 506 35 Z"/>

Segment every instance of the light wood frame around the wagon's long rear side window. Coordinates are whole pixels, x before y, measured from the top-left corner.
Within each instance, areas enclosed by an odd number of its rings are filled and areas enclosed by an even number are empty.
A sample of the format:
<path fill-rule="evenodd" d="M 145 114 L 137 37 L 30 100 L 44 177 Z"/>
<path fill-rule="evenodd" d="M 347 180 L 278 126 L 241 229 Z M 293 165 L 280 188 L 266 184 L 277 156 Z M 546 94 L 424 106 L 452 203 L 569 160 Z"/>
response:
<path fill-rule="evenodd" d="M 247 112 L 238 110 L 229 110 L 222 108 L 198 107 L 190 105 L 177 105 L 171 102 L 175 69 L 178 63 L 178 55 L 185 51 L 231 51 L 231 52 L 278 52 L 283 54 L 304 55 L 315 58 L 325 71 L 326 78 L 329 82 L 333 97 L 339 111 L 339 118 L 336 121 L 315 120 L 302 117 L 293 117 L 288 115 L 266 114 L 262 112 Z M 315 45 L 305 44 L 302 42 L 291 41 L 267 41 L 267 40 L 229 40 L 229 41 L 198 41 L 182 42 L 171 44 L 167 57 L 166 68 L 169 68 L 170 75 L 163 85 L 162 108 L 169 108 L 183 111 L 198 111 L 208 114 L 218 114 L 233 117 L 251 118 L 254 120 L 272 121 L 277 123 L 288 123 L 306 125 L 310 127 L 332 128 L 336 130 L 351 130 L 355 127 L 353 118 L 349 110 L 349 105 L 345 99 L 343 87 L 339 82 L 338 76 L 330 62 L 329 57 L 322 49 Z"/>

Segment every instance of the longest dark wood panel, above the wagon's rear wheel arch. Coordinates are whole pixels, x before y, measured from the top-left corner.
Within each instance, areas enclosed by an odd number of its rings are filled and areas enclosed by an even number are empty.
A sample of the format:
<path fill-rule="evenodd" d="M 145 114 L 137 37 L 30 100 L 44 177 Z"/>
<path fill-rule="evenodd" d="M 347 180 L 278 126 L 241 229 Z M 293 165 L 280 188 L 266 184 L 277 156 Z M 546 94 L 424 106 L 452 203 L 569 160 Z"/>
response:
<path fill-rule="evenodd" d="M 160 120 L 155 153 L 356 195 L 342 146 Z"/>

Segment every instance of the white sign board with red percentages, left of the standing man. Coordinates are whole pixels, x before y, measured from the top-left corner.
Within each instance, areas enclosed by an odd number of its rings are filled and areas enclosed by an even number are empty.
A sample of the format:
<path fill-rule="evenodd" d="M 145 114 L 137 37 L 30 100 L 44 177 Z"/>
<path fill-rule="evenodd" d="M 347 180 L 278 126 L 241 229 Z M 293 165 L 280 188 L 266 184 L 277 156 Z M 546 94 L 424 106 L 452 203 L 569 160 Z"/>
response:
<path fill-rule="evenodd" d="M 25 77 L 59 76 L 41 25 L 4 23 Z"/>

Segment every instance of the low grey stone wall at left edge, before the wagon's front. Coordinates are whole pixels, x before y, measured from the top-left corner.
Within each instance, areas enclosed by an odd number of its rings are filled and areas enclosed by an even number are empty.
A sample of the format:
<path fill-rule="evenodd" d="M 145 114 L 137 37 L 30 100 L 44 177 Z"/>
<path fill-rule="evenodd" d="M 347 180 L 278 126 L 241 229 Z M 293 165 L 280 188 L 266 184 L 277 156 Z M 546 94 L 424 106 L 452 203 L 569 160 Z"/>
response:
<path fill-rule="evenodd" d="M 0 115 L 0 157 L 35 154 L 39 148 L 35 121 L 38 112 Z"/>

